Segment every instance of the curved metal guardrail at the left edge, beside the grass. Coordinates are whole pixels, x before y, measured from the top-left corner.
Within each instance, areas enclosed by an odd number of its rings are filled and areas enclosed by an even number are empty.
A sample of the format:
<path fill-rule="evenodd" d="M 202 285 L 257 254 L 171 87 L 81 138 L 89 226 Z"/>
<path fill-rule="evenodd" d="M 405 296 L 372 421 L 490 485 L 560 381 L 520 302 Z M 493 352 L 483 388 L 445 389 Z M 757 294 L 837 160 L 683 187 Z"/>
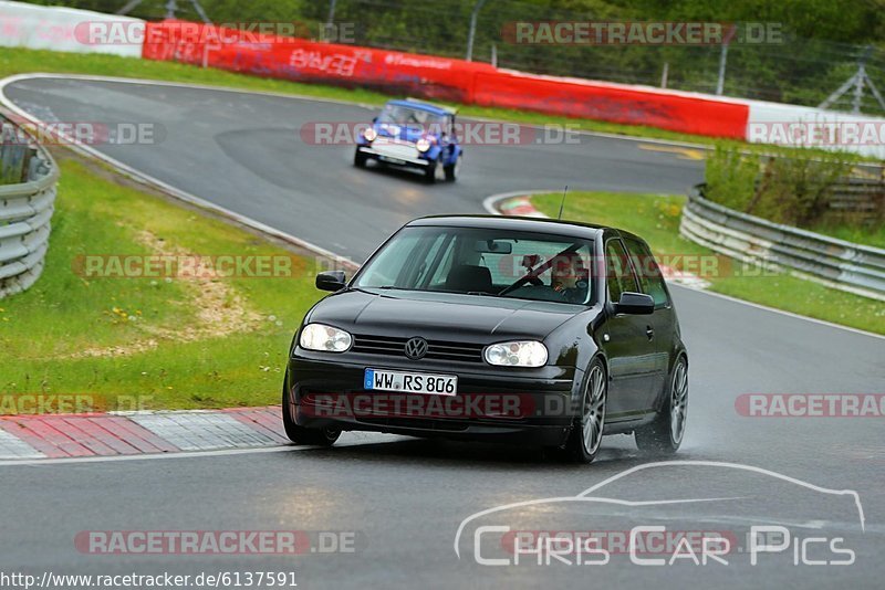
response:
<path fill-rule="evenodd" d="M 11 123 L 0 118 L 7 130 Z M 24 134 L 18 134 L 20 141 Z M 0 185 L 0 299 L 20 293 L 43 272 L 59 167 L 43 147 L 6 144 L 2 168 L 24 181 Z"/>

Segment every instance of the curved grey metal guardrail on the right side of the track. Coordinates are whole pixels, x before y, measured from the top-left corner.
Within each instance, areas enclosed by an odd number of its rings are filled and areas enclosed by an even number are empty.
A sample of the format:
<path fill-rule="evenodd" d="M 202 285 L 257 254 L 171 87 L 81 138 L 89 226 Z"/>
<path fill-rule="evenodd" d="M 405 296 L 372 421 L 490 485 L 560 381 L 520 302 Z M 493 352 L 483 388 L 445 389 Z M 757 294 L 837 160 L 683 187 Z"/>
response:
<path fill-rule="evenodd" d="M 695 187 L 679 233 L 732 259 L 885 301 L 885 250 L 854 244 L 735 211 Z"/>

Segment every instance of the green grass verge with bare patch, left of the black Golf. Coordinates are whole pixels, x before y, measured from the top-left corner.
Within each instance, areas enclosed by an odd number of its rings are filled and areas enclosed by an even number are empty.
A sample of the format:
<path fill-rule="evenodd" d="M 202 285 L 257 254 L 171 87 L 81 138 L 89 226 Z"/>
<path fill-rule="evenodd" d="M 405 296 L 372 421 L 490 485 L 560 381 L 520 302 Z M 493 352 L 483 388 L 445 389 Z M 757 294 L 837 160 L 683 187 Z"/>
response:
<path fill-rule="evenodd" d="M 0 301 L 2 399 L 85 396 L 95 409 L 127 409 L 134 398 L 146 409 L 279 403 L 292 334 L 319 297 L 314 260 L 127 186 L 101 165 L 70 156 L 60 165 L 43 276 Z M 258 273 L 272 276 L 118 277 L 116 259 L 91 257 L 103 262 L 87 268 L 83 257 L 158 254 L 281 262 Z"/>

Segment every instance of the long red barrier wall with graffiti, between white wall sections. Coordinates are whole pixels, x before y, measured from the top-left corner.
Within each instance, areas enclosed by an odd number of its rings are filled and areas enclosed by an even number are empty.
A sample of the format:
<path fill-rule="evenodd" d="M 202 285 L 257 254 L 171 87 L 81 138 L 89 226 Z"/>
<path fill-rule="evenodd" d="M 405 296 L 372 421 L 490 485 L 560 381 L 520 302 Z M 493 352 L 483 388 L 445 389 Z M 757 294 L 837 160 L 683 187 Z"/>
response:
<path fill-rule="evenodd" d="M 225 42 L 207 35 L 218 31 Z M 248 43 L 231 39 L 244 38 L 184 21 L 147 23 L 143 57 L 712 137 L 743 139 L 749 117 L 747 104 L 685 93 L 521 74 L 485 63 L 303 39 L 252 35 Z"/>

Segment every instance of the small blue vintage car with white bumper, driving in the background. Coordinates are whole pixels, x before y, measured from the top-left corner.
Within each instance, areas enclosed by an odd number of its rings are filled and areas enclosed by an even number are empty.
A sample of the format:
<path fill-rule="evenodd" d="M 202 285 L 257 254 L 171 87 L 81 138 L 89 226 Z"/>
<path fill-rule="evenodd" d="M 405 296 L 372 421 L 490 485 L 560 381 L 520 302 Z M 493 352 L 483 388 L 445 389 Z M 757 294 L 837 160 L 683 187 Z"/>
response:
<path fill-rule="evenodd" d="M 455 130 L 455 112 L 419 101 L 391 101 L 356 139 L 353 164 L 368 160 L 417 168 L 429 182 L 454 181 L 464 150 Z"/>

